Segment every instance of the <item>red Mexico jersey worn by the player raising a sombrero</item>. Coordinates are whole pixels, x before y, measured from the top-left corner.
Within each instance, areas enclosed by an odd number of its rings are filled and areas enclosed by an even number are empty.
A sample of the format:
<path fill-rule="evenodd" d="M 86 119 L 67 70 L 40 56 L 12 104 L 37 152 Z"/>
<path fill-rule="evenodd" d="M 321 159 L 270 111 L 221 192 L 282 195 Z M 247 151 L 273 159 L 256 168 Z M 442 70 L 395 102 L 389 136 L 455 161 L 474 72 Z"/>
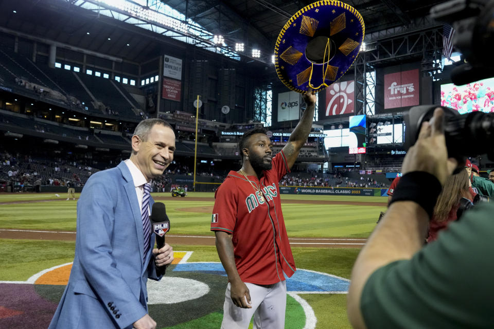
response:
<path fill-rule="evenodd" d="M 289 169 L 283 151 L 273 157 L 272 169 L 260 180 L 231 171 L 215 195 L 211 231 L 233 234 L 232 242 L 240 279 L 273 284 L 291 277 L 295 262 L 281 213 L 278 181 Z"/>

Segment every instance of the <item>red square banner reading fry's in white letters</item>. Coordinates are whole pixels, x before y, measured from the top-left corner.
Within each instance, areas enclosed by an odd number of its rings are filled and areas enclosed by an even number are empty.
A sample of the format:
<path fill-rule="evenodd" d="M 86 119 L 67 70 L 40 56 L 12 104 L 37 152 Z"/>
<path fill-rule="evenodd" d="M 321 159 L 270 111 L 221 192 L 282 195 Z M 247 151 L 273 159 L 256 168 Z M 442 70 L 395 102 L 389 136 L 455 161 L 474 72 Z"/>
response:
<path fill-rule="evenodd" d="M 384 108 L 419 103 L 418 69 L 384 75 Z"/>

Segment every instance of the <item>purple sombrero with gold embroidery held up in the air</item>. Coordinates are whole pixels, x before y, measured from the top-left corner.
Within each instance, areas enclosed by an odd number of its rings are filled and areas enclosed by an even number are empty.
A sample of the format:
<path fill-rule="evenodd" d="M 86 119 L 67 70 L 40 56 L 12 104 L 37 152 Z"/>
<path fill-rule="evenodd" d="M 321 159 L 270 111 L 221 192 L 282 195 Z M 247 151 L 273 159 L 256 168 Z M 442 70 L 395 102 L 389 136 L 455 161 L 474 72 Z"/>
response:
<path fill-rule="evenodd" d="M 279 79 L 295 92 L 320 92 L 357 59 L 365 26 L 360 13 L 340 1 L 317 1 L 297 11 L 274 47 Z"/>

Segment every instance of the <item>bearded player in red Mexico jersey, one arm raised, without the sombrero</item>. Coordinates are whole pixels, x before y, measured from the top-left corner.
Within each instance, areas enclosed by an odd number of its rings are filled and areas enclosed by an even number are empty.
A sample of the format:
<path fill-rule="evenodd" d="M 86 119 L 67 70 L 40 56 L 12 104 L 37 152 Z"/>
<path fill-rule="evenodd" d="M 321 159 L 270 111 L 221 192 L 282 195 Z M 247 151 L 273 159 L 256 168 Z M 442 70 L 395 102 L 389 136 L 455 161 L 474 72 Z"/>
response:
<path fill-rule="evenodd" d="M 315 95 L 283 150 L 272 157 L 263 129 L 246 132 L 240 142 L 243 166 L 231 171 L 215 194 L 211 231 L 228 276 L 221 328 L 285 328 L 286 277 L 295 262 L 281 213 L 278 181 L 295 163 L 314 117 Z"/>

